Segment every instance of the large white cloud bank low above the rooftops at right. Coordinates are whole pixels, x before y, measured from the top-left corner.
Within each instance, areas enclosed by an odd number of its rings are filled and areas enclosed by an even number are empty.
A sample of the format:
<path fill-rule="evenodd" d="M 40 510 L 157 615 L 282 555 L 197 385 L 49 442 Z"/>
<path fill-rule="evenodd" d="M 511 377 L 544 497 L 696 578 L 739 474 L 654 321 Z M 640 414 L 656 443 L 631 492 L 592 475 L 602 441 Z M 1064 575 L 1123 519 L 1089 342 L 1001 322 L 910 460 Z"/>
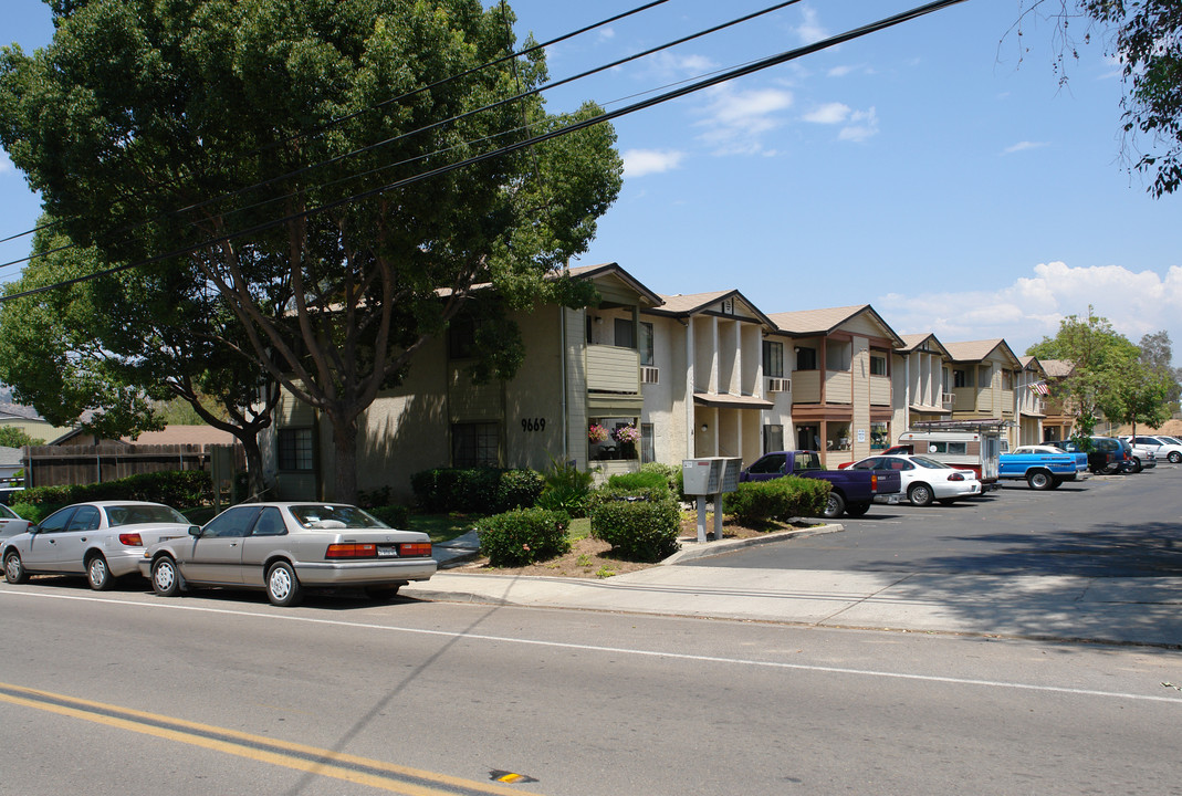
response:
<path fill-rule="evenodd" d="M 934 332 L 944 342 L 1005 338 L 1018 354 L 1044 337 L 1054 337 L 1064 318 L 1086 317 L 1092 306 L 1132 342 L 1165 330 L 1175 352 L 1182 353 L 1180 266 L 1160 274 L 1123 266 L 1040 263 L 1031 276 L 996 291 L 890 293 L 873 305 L 900 334 Z"/>

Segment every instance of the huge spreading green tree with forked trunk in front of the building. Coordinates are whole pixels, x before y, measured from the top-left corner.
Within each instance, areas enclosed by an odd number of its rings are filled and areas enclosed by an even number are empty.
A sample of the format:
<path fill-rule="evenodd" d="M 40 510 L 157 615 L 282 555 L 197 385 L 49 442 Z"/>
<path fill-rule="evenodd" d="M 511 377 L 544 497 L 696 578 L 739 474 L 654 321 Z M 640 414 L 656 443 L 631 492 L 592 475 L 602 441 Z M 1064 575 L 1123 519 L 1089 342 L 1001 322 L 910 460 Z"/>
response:
<path fill-rule="evenodd" d="M 73 241 L 220 295 L 241 351 L 331 424 L 337 498 L 362 413 L 476 286 L 498 295 L 478 337 L 508 344 L 486 376 L 520 361 L 507 309 L 586 299 L 553 276 L 619 190 L 613 132 L 524 145 L 566 119 L 502 102 L 545 80 L 540 51 L 504 59 L 506 6 L 51 5 L 50 46 L 0 63 L 0 143 Z"/>

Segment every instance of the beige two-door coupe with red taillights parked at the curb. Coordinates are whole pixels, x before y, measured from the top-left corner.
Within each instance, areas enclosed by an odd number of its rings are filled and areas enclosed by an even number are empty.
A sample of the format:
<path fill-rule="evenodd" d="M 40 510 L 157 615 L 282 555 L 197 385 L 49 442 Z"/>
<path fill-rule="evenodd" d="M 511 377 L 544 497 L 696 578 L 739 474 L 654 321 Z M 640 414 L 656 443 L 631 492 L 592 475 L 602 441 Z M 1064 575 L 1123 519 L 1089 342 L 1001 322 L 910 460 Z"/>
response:
<path fill-rule="evenodd" d="M 277 606 L 300 601 L 305 587 L 361 587 L 392 595 L 435 574 L 427 534 L 395 530 L 343 503 L 245 503 L 163 540 L 139 572 L 161 596 L 194 586 L 264 589 Z"/>

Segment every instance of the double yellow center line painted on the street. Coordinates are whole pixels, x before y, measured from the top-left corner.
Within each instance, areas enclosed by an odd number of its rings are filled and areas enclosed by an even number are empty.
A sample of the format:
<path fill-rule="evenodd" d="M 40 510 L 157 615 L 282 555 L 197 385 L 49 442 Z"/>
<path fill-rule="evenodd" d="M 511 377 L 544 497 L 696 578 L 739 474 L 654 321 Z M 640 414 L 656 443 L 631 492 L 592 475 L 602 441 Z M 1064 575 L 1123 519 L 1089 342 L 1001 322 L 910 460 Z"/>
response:
<path fill-rule="evenodd" d="M 34 707 L 58 713 L 59 716 L 93 722 L 141 735 L 155 736 L 191 746 L 201 746 L 226 755 L 245 757 L 260 763 L 269 763 L 317 776 L 344 779 L 379 790 L 403 794 L 404 796 L 455 796 L 457 789 L 461 792 L 496 794 L 501 796 L 507 796 L 508 794 L 520 796 L 521 794 L 520 790 L 504 788 L 493 783 L 462 779 L 460 777 L 395 765 L 394 763 L 375 761 L 357 755 L 335 752 L 329 749 L 279 740 L 266 736 L 255 736 L 248 732 L 187 722 L 158 713 L 149 713 L 5 683 L 0 683 L 0 702 Z M 108 713 L 118 713 L 118 716 L 110 716 Z M 168 726 L 161 726 L 162 724 Z M 241 743 L 235 743 L 235 740 L 240 740 Z M 271 748 L 271 750 L 256 749 L 254 746 Z M 284 753 L 285 751 L 291 753 Z M 305 759 L 305 756 L 312 759 Z M 349 765 L 369 769 L 370 771 L 387 772 L 392 776 L 382 776 L 381 774 L 346 768 Z M 446 790 L 437 790 L 429 785 L 424 787 L 395 777 L 408 777 L 434 783 L 444 787 Z"/>

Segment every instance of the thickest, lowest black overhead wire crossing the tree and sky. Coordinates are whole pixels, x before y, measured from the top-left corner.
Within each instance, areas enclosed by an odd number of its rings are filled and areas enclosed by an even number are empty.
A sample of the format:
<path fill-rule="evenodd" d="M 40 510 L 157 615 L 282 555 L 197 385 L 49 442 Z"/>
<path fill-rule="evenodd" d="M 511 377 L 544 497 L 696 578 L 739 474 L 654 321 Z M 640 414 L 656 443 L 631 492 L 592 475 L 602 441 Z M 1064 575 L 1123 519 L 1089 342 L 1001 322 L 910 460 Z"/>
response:
<path fill-rule="evenodd" d="M 713 86 L 719 85 L 721 83 L 726 83 L 728 80 L 734 80 L 734 79 L 740 78 L 740 77 L 746 77 L 748 74 L 753 74 L 755 72 L 760 72 L 762 70 L 771 68 L 772 66 L 779 66 L 779 65 L 786 64 L 786 63 L 788 63 L 791 60 L 795 60 L 795 59 L 803 58 L 805 56 L 811 56 L 811 54 L 813 54 L 816 52 L 820 52 L 820 51 L 827 50 L 830 47 L 836 47 L 837 45 L 845 44 L 845 43 L 852 41 L 855 39 L 859 39 L 862 37 L 869 35 L 871 33 L 877 33 L 878 31 L 883 31 L 883 30 L 886 30 L 889 27 L 894 27 L 896 25 L 901 25 L 903 22 L 908 22 L 908 21 L 911 21 L 914 19 L 918 19 L 921 17 L 926 17 L 927 14 L 931 14 L 934 12 L 942 11 L 944 8 L 948 8 L 948 7 L 952 7 L 952 6 L 955 6 L 955 5 L 960 5 L 961 2 L 965 2 L 965 1 L 966 0 L 935 0 L 934 2 L 929 2 L 929 4 L 923 5 L 923 6 L 917 6 L 915 8 L 911 8 L 910 11 L 904 11 L 904 12 L 895 14 L 892 17 L 886 17 L 884 19 L 881 19 L 881 20 L 876 21 L 876 22 L 870 22 L 869 25 L 864 25 L 862 27 L 857 27 L 857 28 L 846 31 L 845 33 L 840 33 L 838 35 L 830 37 L 830 38 L 823 39 L 820 41 L 816 41 L 816 43 L 806 45 L 804 47 L 798 47 L 795 50 L 788 50 L 788 51 L 778 53 L 775 56 L 769 56 L 767 58 L 762 58 L 762 59 L 759 59 L 759 60 L 751 61 L 749 64 L 745 64 L 743 66 L 740 66 L 740 67 L 736 67 L 736 68 L 733 68 L 733 70 L 727 70 L 726 72 L 721 72 L 719 74 L 715 74 L 713 77 L 706 78 L 703 80 L 697 80 L 697 81 L 695 81 L 693 84 L 689 84 L 687 86 L 682 86 L 680 89 L 675 89 L 673 91 L 668 91 L 665 93 L 658 94 L 656 97 L 651 97 L 649 99 L 644 99 L 644 100 L 641 100 L 641 102 L 637 102 L 637 103 L 632 103 L 631 105 L 625 105 L 624 107 L 617 109 L 615 111 L 609 111 L 609 112 L 605 112 L 605 113 L 602 113 L 602 115 L 596 116 L 596 117 L 593 117 L 591 119 L 583 119 L 580 122 L 574 122 L 574 123 L 569 124 L 569 125 L 566 125 L 564 128 L 558 128 L 556 130 L 551 130 L 548 132 L 544 132 L 544 133 L 533 136 L 531 138 L 527 138 L 527 139 L 524 139 L 524 141 L 520 141 L 520 142 L 514 142 L 513 144 L 508 144 L 508 145 L 502 146 L 501 149 L 498 149 L 498 150 L 485 152 L 482 155 L 476 155 L 476 156 L 473 156 L 473 157 L 467 158 L 465 161 L 460 161 L 460 162 L 456 162 L 456 163 L 450 163 L 450 164 L 440 167 L 437 169 L 431 169 L 429 171 L 423 171 L 423 172 L 414 175 L 411 177 L 405 177 L 403 180 L 398 180 L 398 181 L 389 183 L 387 185 L 382 185 L 379 188 L 374 188 L 371 190 L 363 191 L 361 194 L 356 194 L 356 195 L 346 197 L 346 198 L 337 200 L 335 202 L 330 202 L 327 204 L 323 204 L 323 205 L 317 207 L 317 208 L 312 208 L 312 209 L 309 209 L 309 210 L 303 210 L 300 213 L 291 214 L 291 215 L 284 216 L 281 218 L 268 221 L 268 222 L 266 222 L 264 224 L 258 224 L 255 227 L 251 227 L 249 229 L 243 229 L 243 230 L 239 230 L 236 233 L 230 233 L 230 234 L 227 234 L 227 235 L 221 235 L 219 237 L 209 239 L 209 240 L 206 240 L 206 241 L 203 241 L 203 242 L 201 242 L 201 243 L 199 243 L 196 246 L 190 246 L 190 247 L 184 247 L 184 248 L 180 248 L 180 249 L 174 249 L 171 252 L 167 252 L 167 253 L 163 253 L 163 254 L 157 254 L 157 255 L 154 255 L 151 257 L 147 257 L 144 260 L 139 260 L 139 261 L 136 261 L 136 262 L 124 263 L 124 265 L 121 265 L 121 266 L 115 266 L 112 268 L 106 268 L 104 270 L 96 272 L 93 274 L 89 274 L 86 276 L 78 276 L 78 278 L 65 280 L 65 281 L 61 281 L 61 282 L 56 282 L 53 285 L 45 285 L 45 286 L 39 287 L 39 288 L 22 291 L 20 293 L 14 293 L 14 294 L 8 295 L 8 296 L 2 296 L 2 298 L 0 298 L 0 304 L 7 302 L 7 301 L 13 301 L 15 299 L 27 298 L 27 296 L 31 296 L 31 295 L 38 295 L 40 293 L 46 293 L 48 291 L 52 291 L 52 289 L 56 289 L 56 288 L 59 288 L 59 287 L 71 287 L 73 285 L 78 285 L 78 283 L 82 283 L 82 282 L 89 282 L 89 281 L 92 281 L 92 280 L 96 280 L 96 279 L 100 279 L 103 276 L 109 276 L 109 275 L 117 274 L 117 273 L 121 273 L 121 272 L 124 272 L 124 270 L 130 270 L 131 268 L 137 268 L 137 267 L 147 266 L 147 265 L 154 263 L 154 262 L 160 262 L 161 260 L 169 260 L 169 259 L 173 259 L 173 257 L 182 256 L 182 255 L 186 255 L 186 254 L 190 254 L 190 253 L 193 253 L 193 252 L 195 252 L 195 250 L 197 250 L 200 248 L 206 248 L 206 247 L 210 247 L 210 246 L 217 246 L 217 244 L 221 244 L 221 243 L 227 243 L 227 242 L 229 242 L 232 240 L 236 240 L 239 237 L 243 237 L 243 236 L 248 236 L 248 235 L 254 235 L 256 233 L 260 233 L 260 231 L 271 229 L 273 227 L 278 227 L 280 224 L 287 223 L 288 221 L 294 221 L 297 218 L 301 218 L 301 217 L 316 215 L 316 214 L 319 214 L 319 213 L 326 213 L 329 210 L 333 210 L 333 209 L 336 209 L 338 207 L 342 207 L 344 204 L 349 204 L 350 202 L 356 202 L 356 201 L 361 201 L 361 200 L 365 200 L 365 198 L 371 198 L 374 196 L 377 196 L 377 195 L 383 194 L 383 193 L 389 191 L 389 190 L 394 190 L 396 188 L 402 188 L 404 185 L 409 185 L 409 184 L 413 184 L 413 183 L 422 182 L 424 180 L 430 180 L 431 177 L 436 177 L 436 176 L 440 176 L 440 175 L 443 175 L 443 174 L 448 174 L 450 171 L 455 171 L 457 169 L 466 168 L 468 165 L 474 165 L 476 163 L 482 163 L 482 162 L 492 159 L 494 157 L 500 157 L 502 155 L 515 152 L 515 151 L 519 151 L 521 149 L 525 149 L 526 146 L 533 146 L 535 144 L 540 144 L 543 142 L 550 141 L 552 138 L 557 138 L 559 136 L 565 136 L 565 135 L 569 135 L 571 132 L 577 132 L 579 130 L 585 130 L 585 129 L 591 128 L 591 126 L 593 126 L 596 124 L 602 124 L 604 122 L 611 122 L 612 119 L 616 119 L 616 118 L 619 118 L 619 117 L 623 117 L 623 116 L 628 116 L 629 113 L 635 113 L 637 111 L 647 110 L 649 107 L 652 107 L 655 105 L 660 105 L 662 103 L 667 103 L 667 102 L 673 100 L 673 99 L 680 99 L 681 97 L 686 97 L 686 96 L 695 93 L 697 91 L 702 91 L 704 89 L 713 87 Z"/>

